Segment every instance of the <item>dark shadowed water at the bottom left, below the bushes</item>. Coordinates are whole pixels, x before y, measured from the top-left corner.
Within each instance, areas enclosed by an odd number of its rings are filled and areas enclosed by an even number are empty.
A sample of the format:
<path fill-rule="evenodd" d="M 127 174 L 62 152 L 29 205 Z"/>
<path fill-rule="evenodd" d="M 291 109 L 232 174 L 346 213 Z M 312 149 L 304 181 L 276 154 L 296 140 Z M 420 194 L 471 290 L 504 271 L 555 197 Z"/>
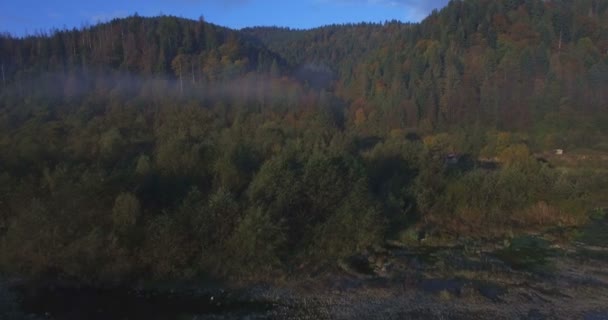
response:
<path fill-rule="evenodd" d="M 139 290 L 124 287 L 16 288 L 21 311 L 46 319 L 264 319 L 268 302 L 224 291 Z"/>

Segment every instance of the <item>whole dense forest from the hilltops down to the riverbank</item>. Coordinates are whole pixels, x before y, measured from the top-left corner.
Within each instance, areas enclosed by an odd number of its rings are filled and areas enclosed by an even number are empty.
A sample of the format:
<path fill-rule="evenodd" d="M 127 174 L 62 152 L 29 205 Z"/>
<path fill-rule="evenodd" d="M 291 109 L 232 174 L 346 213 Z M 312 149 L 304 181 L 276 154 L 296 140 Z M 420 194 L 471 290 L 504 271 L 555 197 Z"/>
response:
<path fill-rule="evenodd" d="M 296 273 L 420 230 L 605 205 L 608 1 L 463 0 L 417 24 L 116 19 L 0 36 L 0 270 Z M 605 199 L 604 199 L 605 200 Z"/>

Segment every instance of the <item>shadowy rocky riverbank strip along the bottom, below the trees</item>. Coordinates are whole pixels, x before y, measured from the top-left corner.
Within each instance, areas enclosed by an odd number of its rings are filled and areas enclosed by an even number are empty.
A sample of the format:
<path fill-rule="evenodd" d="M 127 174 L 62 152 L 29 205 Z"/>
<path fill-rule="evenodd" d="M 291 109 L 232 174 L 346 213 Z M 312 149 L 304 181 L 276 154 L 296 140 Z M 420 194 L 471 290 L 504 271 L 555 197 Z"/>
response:
<path fill-rule="evenodd" d="M 273 284 L 3 281 L 0 318 L 608 319 L 608 248 L 594 234 L 604 222 L 566 243 L 551 235 L 455 246 L 390 243 Z"/>

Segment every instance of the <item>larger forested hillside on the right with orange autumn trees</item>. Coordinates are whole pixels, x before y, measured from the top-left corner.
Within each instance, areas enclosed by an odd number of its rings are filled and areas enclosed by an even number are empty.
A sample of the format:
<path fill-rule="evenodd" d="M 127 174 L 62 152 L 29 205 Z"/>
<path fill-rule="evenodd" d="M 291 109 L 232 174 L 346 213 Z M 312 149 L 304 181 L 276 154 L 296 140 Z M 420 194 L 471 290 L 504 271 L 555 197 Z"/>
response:
<path fill-rule="evenodd" d="M 559 130 L 606 111 L 607 8 L 605 1 L 451 1 L 420 24 L 244 32 L 292 63 L 330 66 L 353 115 L 383 125 Z"/>

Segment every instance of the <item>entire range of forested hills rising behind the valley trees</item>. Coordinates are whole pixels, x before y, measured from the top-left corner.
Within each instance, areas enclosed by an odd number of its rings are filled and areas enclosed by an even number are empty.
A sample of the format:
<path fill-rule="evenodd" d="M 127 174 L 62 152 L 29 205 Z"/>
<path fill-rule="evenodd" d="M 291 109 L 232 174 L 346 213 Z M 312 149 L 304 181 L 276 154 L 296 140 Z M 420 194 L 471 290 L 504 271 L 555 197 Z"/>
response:
<path fill-rule="evenodd" d="M 606 88 L 607 7 L 594 0 L 450 1 L 420 23 L 310 30 L 132 16 L 51 36 L 3 37 L 0 60 L 5 84 L 76 66 L 193 84 L 261 73 L 329 90 L 352 116 L 379 117 L 394 128 L 473 121 L 532 129 L 553 112 L 548 104 L 567 100 L 587 116 L 605 108 L 606 97 L 584 88 Z"/>

